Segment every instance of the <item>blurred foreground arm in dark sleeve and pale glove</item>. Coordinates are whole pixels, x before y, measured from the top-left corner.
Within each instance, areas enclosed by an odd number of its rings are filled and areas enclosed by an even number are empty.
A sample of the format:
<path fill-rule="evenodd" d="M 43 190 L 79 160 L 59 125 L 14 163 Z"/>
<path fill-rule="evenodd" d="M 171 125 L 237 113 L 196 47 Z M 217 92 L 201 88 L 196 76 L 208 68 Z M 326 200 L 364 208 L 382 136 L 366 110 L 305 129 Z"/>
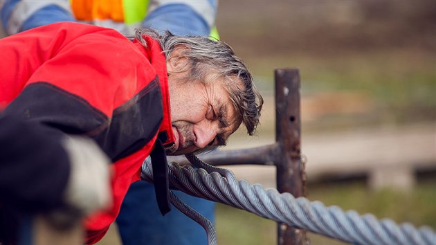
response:
<path fill-rule="evenodd" d="M 91 140 L 0 114 L 0 148 L 2 206 L 86 215 L 110 203 L 109 159 Z"/>

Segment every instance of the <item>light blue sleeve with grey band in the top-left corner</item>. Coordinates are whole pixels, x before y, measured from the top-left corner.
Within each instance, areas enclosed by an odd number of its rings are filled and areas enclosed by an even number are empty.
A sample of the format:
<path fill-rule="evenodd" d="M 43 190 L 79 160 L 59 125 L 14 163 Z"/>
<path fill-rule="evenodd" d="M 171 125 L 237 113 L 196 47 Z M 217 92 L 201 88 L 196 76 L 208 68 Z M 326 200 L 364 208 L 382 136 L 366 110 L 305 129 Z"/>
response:
<path fill-rule="evenodd" d="M 46 24 L 75 21 L 69 0 L 4 0 L 0 3 L 0 17 L 8 35 Z"/>

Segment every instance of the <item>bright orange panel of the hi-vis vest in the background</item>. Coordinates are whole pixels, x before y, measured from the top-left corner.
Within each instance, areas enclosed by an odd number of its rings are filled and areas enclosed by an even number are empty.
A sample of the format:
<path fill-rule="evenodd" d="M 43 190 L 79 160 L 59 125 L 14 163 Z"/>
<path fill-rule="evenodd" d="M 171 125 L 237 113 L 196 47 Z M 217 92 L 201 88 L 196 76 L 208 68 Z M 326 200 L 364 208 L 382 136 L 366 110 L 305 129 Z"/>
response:
<path fill-rule="evenodd" d="M 81 21 L 95 19 L 124 21 L 122 0 L 72 0 L 71 9 L 75 18 Z"/>

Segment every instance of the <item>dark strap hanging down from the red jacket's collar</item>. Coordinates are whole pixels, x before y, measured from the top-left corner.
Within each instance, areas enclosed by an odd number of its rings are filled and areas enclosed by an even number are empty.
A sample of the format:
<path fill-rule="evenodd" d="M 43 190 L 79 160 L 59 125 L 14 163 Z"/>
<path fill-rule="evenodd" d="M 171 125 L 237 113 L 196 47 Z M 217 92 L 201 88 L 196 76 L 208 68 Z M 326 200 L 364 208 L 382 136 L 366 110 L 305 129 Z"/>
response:
<path fill-rule="evenodd" d="M 152 158 L 154 190 L 156 200 L 161 214 L 165 215 L 170 212 L 170 183 L 168 180 L 168 163 L 161 140 L 157 139 L 154 143 L 154 149 L 150 154 Z"/>

